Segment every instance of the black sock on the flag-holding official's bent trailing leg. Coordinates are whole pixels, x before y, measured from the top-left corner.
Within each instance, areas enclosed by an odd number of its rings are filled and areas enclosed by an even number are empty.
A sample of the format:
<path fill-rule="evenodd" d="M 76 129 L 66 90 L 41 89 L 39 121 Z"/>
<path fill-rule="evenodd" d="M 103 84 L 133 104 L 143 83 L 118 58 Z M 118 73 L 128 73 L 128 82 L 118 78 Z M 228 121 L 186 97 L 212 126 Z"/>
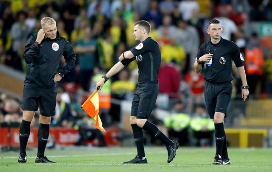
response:
<path fill-rule="evenodd" d="M 173 144 L 172 140 L 170 140 L 164 133 L 162 133 L 157 126 L 146 121 L 143 125 L 142 129 L 148 131 L 150 134 L 154 135 L 155 137 L 159 138 L 166 146 Z"/>

